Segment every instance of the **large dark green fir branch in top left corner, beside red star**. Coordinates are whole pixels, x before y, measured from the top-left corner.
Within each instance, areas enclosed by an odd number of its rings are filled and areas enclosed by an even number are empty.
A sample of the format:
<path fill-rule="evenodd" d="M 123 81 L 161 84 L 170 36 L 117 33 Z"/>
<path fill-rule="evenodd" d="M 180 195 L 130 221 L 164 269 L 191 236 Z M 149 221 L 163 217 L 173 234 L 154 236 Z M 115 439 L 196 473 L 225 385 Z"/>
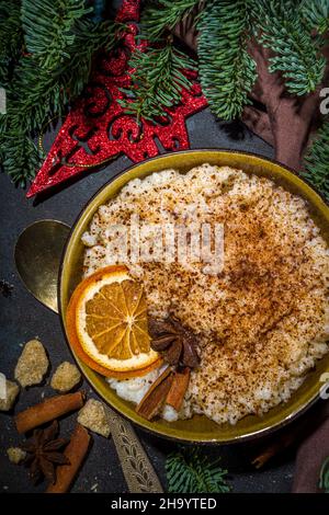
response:
<path fill-rule="evenodd" d="M 88 19 L 89 9 L 83 9 L 83 3 L 23 0 L 22 22 L 29 53 L 14 69 L 7 89 L 7 122 L 0 125 L 2 167 L 21 185 L 35 175 L 39 165 L 33 138 L 47 119 L 64 115 L 68 102 L 81 93 L 94 52 L 110 48 L 116 42 L 117 26 L 110 21 L 95 23 Z"/>

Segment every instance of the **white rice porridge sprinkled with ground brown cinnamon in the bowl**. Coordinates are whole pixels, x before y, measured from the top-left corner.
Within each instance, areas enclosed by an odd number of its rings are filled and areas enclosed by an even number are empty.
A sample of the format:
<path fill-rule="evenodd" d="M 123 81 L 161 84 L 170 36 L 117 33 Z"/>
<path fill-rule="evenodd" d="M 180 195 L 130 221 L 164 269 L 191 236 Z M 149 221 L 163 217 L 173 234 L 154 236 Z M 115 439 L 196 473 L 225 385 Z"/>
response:
<path fill-rule="evenodd" d="M 202 262 L 129 264 L 121 256 L 144 282 L 150 313 L 170 312 L 200 337 L 201 366 L 191 374 L 183 408 L 163 415 L 204 413 L 234 424 L 288 400 L 329 351 L 329 251 L 305 202 L 228 167 L 131 181 L 83 234 L 86 275 L 113 264 L 107 229 L 128 224 L 132 214 L 140 222 L 223 224 L 225 231 L 224 268 L 216 275 L 205 274 Z M 148 380 L 111 385 L 137 401 Z"/>

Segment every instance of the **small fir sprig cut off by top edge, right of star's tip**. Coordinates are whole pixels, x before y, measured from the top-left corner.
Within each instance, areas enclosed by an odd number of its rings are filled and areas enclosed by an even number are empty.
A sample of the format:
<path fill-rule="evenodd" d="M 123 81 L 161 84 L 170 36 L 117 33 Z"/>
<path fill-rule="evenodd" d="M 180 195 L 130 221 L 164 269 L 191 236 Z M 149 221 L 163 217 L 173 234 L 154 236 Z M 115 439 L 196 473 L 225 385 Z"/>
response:
<path fill-rule="evenodd" d="M 150 42 L 159 39 L 166 31 L 171 31 L 201 3 L 204 2 L 200 0 L 149 1 L 141 16 L 141 30 L 145 37 Z"/>

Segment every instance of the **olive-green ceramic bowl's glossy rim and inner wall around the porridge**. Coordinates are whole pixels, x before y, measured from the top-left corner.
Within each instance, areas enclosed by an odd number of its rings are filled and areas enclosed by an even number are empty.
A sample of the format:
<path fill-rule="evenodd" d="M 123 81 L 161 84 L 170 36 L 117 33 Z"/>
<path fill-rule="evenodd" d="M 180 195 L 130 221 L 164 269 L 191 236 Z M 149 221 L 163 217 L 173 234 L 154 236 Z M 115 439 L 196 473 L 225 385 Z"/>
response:
<path fill-rule="evenodd" d="M 219 150 L 191 150 L 149 159 L 141 164 L 129 168 L 105 184 L 91 198 L 76 221 L 64 251 L 59 273 L 58 306 L 64 330 L 66 330 L 65 316 L 70 295 L 82 276 L 83 245 L 81 243 L 81 236 L 87 230 L 98 208 L 114 197 L 132 179 L 144 178 L 152 172 L 159 172 L 168 168 L 174 168 L 184 172 L 205 162 L 230 165 L 241 169 L 247 173 L 263 175 L 281 184 L 292 193 L 298 194 L 306 199 L 311 217 L 321 228 L 322 236 L 329 243 L 329 208 L 320 196 L 302 179 L 276 162 L 250 153 Z M 293 394 L 287 403 L 273 408 L 263 416 L 246 416 L 236 425 L 217 425 L 206 416 L 200 415 L 194 415 L 191 420 L 169 423 L 162 420 L 148 422 L 138 416 L 134 405 L 120 399 L 102 376 L 81 363 L 77 356 L 76 359 L 94 390 L 112 408 L 132 422 L 160 436 L 195 443 L 227 444 L 246 440 L 287 424 L 318 399 L 321 386 L 320 376 L 329 371 L 329 355 L 327 355 L 318 362 L 316 368 L 308 374 L 303 386 Z"/>

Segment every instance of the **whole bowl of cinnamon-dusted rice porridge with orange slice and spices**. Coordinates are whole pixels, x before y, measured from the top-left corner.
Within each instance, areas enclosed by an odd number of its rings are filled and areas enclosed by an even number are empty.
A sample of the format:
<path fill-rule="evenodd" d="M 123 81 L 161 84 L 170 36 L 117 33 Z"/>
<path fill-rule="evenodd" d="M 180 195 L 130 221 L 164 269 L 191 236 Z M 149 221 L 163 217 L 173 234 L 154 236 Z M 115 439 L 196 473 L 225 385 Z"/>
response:
<path fill-rule="evenodd" d="M 259 156 L 191 150 L 134 165 L 91 198 L 58 305 L 111 407 L 164 437 L 232 443 L 319 399 L 328 284 L 329 208 L 304 180 Z"/>

